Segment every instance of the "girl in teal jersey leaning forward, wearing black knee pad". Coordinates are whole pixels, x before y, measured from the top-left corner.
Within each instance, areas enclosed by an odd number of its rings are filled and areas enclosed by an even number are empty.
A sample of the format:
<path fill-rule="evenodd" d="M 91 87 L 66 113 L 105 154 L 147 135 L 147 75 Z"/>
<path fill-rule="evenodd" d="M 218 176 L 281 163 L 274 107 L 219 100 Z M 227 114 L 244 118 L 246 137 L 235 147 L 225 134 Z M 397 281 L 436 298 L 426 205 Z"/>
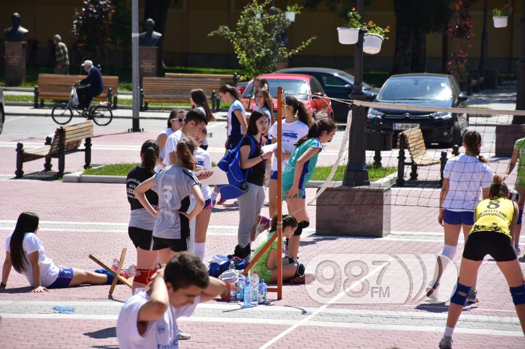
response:
<path fill-rule="evenodd" d="M 305 207 L 306 184 L 316 169 L 321 145 L 332 140 L 336 128 L 335 123 L 329 119 L 312 123 L 308 134 L 295 144 L 296 147 L 282 172 L 282 195 L 286 198 L 288 212 L 292 212 L 299 224 L 289 240 L 289 257 L 297 258 L 302 230 L 310 225 Z"/>

